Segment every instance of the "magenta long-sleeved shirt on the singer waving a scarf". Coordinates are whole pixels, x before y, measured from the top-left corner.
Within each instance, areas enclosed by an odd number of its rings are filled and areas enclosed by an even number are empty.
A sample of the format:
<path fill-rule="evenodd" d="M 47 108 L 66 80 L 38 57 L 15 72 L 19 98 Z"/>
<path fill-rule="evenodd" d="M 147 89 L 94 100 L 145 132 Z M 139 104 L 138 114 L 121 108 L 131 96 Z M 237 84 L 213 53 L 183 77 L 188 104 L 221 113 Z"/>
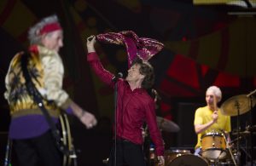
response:
<path fill-rule="evenodd" d="M 113 87 L 113 74 L 103 68 L 97 54 L 89 53 L 87 60 L 102 82 Z M 142 145 L 142 127 L 143 123 L 146 122 L 155 145 L 156 154 L 163 156 L 165 148 L 156 123 L 154 100 L 145 89 L 134 89 L 132 91 L 130 85 L 124 79 L 119 79 L 117 86 L 117 136 Z"/>

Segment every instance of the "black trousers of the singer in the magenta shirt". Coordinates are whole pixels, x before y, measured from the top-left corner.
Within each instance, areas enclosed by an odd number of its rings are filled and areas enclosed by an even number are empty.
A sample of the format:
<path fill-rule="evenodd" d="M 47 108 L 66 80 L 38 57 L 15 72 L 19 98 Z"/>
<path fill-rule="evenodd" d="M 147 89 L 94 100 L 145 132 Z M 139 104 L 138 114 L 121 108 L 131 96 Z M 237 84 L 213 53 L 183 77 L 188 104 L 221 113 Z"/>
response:
<path fill-rule="evenodd" d="M 109 157 L 109 166 L 146 166 L 143 146 L 129 140 L 117 140 L 116 165 L 114 165 L 114 144 Z"/>

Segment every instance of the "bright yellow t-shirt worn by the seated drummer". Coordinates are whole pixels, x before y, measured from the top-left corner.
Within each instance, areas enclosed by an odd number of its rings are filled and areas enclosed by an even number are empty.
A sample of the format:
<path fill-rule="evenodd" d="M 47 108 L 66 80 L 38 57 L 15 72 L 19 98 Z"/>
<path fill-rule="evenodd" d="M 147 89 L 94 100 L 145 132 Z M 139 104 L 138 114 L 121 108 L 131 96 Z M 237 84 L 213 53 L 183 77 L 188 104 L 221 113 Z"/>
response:
<path fill-rule="evenodd" d="M 205 124 L 212 121 L 212 110 L 208 106 L 200 107 L 195 111 L 195 124 Z M 231 131 L 230 116 L 223 115 L 218 109 L 218 123 L 213 123 L 207 130 L 197 135 L 197 144 L 195 149 L 201 146 L 201 135 L 205 135 L 210 132 L 219 132 L 221 130 L 225 132 Z"/>

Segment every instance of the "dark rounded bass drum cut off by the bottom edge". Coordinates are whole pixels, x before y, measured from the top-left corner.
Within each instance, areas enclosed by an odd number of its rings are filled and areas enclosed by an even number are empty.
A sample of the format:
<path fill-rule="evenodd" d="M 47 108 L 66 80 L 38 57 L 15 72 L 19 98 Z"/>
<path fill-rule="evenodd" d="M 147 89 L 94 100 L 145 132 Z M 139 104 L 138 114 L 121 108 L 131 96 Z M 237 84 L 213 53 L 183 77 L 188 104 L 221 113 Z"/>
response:
<path fill-rule="evenodd" d="M 195 156 L 194 154 L 183 154 L 179 157 L 175 157 L 171 163 L 166 166 L 177 165 L 191 165 L 191 166 L 208 166 L 207 160 L 201 156 Z"/>

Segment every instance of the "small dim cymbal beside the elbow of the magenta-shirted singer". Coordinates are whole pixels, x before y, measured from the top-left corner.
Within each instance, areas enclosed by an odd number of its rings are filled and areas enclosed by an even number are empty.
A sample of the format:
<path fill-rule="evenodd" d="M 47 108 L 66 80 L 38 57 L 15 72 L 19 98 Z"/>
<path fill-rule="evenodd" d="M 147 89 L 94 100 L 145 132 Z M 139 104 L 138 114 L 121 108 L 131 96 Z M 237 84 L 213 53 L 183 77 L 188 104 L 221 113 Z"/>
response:
<path fill-rule="evenodd" d="M 167 120 L 163 117 L 156 117 L 157 125 L 160 130 L 167 132 L 178 132 L 179 127 L 176 123 L 173 123 L 170 120 Z"/>

